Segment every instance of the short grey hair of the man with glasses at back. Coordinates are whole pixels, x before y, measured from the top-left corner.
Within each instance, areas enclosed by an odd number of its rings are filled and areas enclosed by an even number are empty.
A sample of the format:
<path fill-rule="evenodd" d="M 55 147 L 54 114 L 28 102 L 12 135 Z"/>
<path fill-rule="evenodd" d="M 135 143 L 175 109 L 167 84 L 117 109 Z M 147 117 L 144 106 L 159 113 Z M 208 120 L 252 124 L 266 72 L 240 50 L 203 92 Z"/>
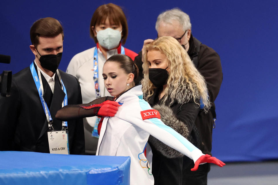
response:
<path fill-rule="evenodd" d="M 156 21 L 156 31 L 158 31 L 158 26 L 161 21 L 163 21 L 164 23 L 171 23 L 173 20 L 179 21 L 184 31 L 191 29 L 189 15 L 184 13 L 179 8 L 173 8 L 171 10 L 166 10 L 159 14 Z"/>

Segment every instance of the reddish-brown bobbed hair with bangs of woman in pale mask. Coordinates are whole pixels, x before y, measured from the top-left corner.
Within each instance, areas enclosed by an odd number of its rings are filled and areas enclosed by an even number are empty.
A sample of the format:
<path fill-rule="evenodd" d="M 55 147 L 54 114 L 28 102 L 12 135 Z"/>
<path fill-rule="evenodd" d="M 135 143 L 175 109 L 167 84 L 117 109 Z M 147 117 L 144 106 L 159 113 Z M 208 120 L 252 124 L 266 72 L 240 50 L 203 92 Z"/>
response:
<path fill-rule="evenodd" d="M 92 26 L 96 28 L 96 25 L 100 25 L 106 21 L 106 19 L 109 19 L 109 22 L 114 23 L 116 25 L 122 25 L 122 45 L 125 44 L 125 41 L 127 40 L 127 34 L 128 34 L 128 27 L 127 27 L 127 18 L 125 17 L 124 12 L 122 11 L 122 8 L 120 8 L 118 5 L 115 5 L 113 3 L 108 3 L 99 6 L 96 11 L 93 14 L 93 17 L 91 19 L 90 24 L 90 35 L 94 39 L 95 43 L 98 42 L 96 39 L 94 32 L 92 30 Z"/>

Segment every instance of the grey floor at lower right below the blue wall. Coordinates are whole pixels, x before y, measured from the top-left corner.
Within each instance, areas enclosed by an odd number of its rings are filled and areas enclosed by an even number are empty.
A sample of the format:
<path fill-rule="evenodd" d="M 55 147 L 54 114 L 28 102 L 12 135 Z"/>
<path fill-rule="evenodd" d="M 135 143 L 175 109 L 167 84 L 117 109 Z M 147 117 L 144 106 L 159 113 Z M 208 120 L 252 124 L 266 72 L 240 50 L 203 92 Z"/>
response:
<path fill-rule="evenodd" d="M 211 165 L 208 185 L 278 185 L 278 161 Z"/>

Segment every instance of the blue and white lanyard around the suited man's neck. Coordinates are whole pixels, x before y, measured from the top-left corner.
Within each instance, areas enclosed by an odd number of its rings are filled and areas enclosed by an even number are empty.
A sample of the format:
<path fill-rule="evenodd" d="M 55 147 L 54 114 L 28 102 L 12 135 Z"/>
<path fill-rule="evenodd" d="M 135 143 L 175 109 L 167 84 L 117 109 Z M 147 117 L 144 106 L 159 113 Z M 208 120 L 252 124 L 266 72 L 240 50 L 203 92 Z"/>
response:
<path fill-rule="evenodd" d="M 53 120 L 52 120 L 52 117 L 50 115 L 50 111 L 49 111 L 49 109 L 47 107 L 47 104 L 46 104 L 46 102 L 45 102 L 45 100 L 43 98 L 43 94 L 42 94 L 42 91 L 41 91 L 41 88 L 43 88 L 43 87 L 41 87 L 40 79 L 39 79 L 39 76 L 38 76 L 38 74 L 36 72 L 36 69 L 34 67 L 34 63 L 33 62 L 30 65 L 30 70 L 31 70 L 34 82 L 36 84 L 36 87 L 38 89 L 39 96 L 41 98 L 41 104 L 42 104 L 42 106 L 44 108 L 45 116 L 46 116 L 47 122 L 48 122 L 48 127 L 49 127 L 49 129 L 51 129 Z M 66 90 L 65 85 L 64 85 L 64 83 L 63 83 L 63 81 L 61 79 L 61 76 L 60 76 L 60 73 L 58 72 L 58 69 L 57 69 L 57 75 L 58 75 L 58 78 L 59 78 L 59 80 L 60 80 L 60 82 L 61 82 L 61 84 L 63 86 L 63 91 L 65 93 L 65 98 L 64 98 L 64 101 L 63 101 L 63 106 L 66 106 L 67 105 L 67 90 Z M 62 123 L 62 127 L 67 128 L 67 122 L 66 121 Z M 53 127 L 52 127 L 52 129 L 53 129 Z"/>

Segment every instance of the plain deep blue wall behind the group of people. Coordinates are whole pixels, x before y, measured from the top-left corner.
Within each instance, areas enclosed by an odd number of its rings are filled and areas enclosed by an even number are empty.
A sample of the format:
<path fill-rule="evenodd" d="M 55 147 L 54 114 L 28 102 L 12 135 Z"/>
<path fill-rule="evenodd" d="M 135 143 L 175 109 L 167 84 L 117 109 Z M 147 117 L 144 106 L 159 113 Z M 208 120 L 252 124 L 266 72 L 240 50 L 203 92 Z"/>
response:
<path fill-rule="evenodd" d="M 0 2 L 0 54 L 11 64 L 0 71 L 13 74 L 30 65 L 30 27 L 43 17 L 63 23 L 64 52 L 60 69 L 70 59 L 94 47 L 89 23 L 104 3 L 121 6 L 129 35 L 125 47 L 139 52 L 143 41 L 156 38 L 155 22 L 166 9 L 179 7 L 189 14 L 192 34 L 220 55 L 223 82 L 215 101 L 213 155 L 221 160 L 278 159 L 277 41 L 278 1 L 5 1 Z M 2 108 L 1 108 L 2 109 Z"/>

